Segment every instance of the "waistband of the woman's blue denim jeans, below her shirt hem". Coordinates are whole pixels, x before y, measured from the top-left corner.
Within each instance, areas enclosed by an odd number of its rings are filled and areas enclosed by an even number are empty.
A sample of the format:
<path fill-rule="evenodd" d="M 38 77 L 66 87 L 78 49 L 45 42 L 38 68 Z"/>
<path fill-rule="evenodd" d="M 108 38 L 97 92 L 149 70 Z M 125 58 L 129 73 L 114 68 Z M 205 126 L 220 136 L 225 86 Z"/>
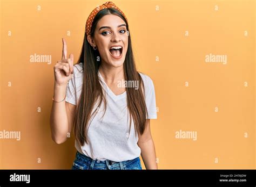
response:
<path fill-rule="evenodd" d="M 97 159 L 91 159 L 91 157 L 88 157 L 84 154 L 81 154 L 77 151 L 76 153 L 76 159 L 82 163 L 85 163 L 89 166 L 93 166 L 93 167 L 104 167 L 104 168 L 114 168 L 114 167 L 120 167 L 121 169 L 123 168 L 123 166 L 127 166 L 131 163 L 133 163 L 134 161 L 140 161 L 139 157 L 136 157 L 135 159 L 132 160 L 126 160 L 126 161 L 122 161 L 122 162 L 115 162 L 115 161 L 111 161 L 111 160 L 104 160 L 104 161 L 100 161 Z"/>

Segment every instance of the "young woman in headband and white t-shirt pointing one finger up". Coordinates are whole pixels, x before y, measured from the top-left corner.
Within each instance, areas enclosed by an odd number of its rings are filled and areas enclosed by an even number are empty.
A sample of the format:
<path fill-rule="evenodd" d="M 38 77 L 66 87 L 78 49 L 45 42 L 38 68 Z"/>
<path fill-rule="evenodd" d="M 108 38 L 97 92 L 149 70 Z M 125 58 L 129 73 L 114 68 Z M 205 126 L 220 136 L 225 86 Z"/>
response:
<path fill-rule="evenodd" d="M 86 21 L 78 63 L 67 57 L 54 66 L 52 139 L 63 143 L 73 128 L 72 169 L 157 169 L 150 119 L 157 118 L 151 78 L 136 70 L 127 18 L 112 2 Z M 65 100 L 65 102 L 64 102 Z"/>

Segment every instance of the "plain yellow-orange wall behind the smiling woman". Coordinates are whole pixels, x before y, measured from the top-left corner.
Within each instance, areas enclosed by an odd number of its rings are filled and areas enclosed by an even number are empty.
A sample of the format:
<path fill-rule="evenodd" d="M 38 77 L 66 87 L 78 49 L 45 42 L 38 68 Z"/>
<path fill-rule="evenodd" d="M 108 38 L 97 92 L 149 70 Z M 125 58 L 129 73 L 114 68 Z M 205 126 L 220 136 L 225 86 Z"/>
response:
<path fill-rule="evenodd" d="M 86 19 L 104 2 L 1 1 L 0 131 L 21 131 L 21 140 L 0 139 L 0 169 L 72 167 L 73 135 L 62 145 L 51 139 L 53 66 L 62 38 L 78 60 Z M 156 89 L 159 169 L 255 169 L 255 1 L 113 2 Z M 31 63 L 35 53 L 51 64 Z M 206 63 L 210 53 L 227 64 Z M 197 131 L 197 140 L 176 139 L 179 130 Z"/>

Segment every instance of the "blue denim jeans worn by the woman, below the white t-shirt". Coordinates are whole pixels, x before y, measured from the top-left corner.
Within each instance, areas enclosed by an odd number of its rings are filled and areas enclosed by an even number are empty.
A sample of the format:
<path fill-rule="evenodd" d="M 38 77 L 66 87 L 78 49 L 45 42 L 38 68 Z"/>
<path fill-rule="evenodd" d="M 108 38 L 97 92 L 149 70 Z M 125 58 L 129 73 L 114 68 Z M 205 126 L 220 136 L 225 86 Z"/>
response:
<path fill-rule="evenodd" d="M 114 162 L 111 160 L 99 161 L 93 160 L 90 157 L 81 154 L 77 151 L 76 159 L 73 162 L 71 169 L 89 170 L 89 169 L 142 169 L 139 157 L 133 160 L 123 162 Z"/>

